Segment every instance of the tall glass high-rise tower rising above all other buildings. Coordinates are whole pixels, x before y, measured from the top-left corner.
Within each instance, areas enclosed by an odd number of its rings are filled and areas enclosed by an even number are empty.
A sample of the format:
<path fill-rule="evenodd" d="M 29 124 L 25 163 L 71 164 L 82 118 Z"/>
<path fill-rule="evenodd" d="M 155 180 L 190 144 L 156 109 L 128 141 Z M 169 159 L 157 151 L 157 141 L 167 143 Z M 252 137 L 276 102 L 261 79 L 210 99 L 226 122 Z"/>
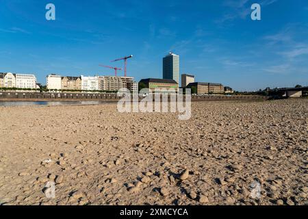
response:
<path fill-rule="evenodd" d="M 179 84 L 179 55 L 169 53 L 163 58 L 163 79 L 172 79 Z"/>

